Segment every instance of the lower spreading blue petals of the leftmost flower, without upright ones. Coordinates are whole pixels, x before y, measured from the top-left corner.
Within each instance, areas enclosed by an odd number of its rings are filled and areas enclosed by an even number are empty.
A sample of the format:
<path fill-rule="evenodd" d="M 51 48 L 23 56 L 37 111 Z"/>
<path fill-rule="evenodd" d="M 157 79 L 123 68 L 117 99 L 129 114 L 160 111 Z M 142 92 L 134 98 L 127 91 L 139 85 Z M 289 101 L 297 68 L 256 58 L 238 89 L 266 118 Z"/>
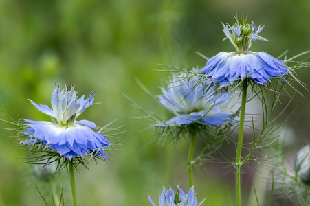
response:
<path fill-rule="evenodd" d="M 85 155 L 89 150 L 96 150 L 109 146 L 110 143 L 105 139 L 105 135 L 96 133 L 87 124 L 93 126 L 89 121 L 82 121 L 82 124 L 74 124 L 74 126 L 61 126 L 44 121 L 32 121 L 23 119 L 26 125 L 30 127 L 29 131 L 24 132 L 26 135 L 34 135 L 36 139 L 42 140 L 43 144 L 52 150 L 57 150 L 60 155 L 71 159 L 77 155 Z M 81 122 L 80 122 L 81 123 Z M 30 133 L 30 131 L 32 131 Z M 32 139 L 27 139 L 21 143 L 32 143 Z M 109 158 L 103 151 L 98 151 L 97 156 Z"/>

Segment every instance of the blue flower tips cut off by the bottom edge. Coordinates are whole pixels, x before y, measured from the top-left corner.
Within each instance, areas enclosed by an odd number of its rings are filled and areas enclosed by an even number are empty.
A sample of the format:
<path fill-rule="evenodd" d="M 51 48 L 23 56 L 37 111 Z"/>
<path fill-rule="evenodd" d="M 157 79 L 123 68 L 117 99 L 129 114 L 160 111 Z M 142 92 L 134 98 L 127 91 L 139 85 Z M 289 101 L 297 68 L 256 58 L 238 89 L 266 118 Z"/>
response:
<path fill-rule="evenodd" d="M 156 206 L 150 196 L 148 196 L 148 200 L 154 206 Z M 199 205 L 201 205 L 203 201 L 201 201 Z M 188 191 L 188 194 L 185 194 L 185 192 L 178 187 L 175 189 L 175 191 L 173 191 L 171 187 L 167 191 L 165 188 L 162 190 L 162 194 L 159 196 L 159 206 L 177 206 L 177 205 L 178 206 L 199 206 L 197 205 L 197 199 L 195 196 L 194 187 L 190 188 L 190 190 Z"/>

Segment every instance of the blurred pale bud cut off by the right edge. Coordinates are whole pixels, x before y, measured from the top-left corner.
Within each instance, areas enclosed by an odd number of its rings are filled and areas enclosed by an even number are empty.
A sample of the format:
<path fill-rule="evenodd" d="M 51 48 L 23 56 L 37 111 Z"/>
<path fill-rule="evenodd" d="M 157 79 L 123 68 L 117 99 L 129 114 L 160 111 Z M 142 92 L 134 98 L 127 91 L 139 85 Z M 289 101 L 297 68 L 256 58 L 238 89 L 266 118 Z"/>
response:
<path fill-rule="evenodd" d="M 297 152 L 294 170 L 299 181 L 310 184 L 310 145 L 303 147 Z"/>

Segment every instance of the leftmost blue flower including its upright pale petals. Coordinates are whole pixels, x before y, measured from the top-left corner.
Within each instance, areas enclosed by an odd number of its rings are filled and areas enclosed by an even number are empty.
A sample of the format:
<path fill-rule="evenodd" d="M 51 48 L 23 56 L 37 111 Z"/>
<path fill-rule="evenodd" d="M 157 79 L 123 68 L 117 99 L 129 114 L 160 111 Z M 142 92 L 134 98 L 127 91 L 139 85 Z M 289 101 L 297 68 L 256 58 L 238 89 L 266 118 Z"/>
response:
<path fill-rule="evenodd" d="M 96 124 L 88 120 L 76 121 L 76 118 L 93 104 L 94 93 L 86 99 L 85 95 L 77 98 L 76 93 L 71 86 L 60 91 L 60 85 L 56 84 L 52 94 L 52 109 L 30 100 L 39 111 L 54 117 L 56 123 L 23 119 L 27 126 L 27 131 L 23 133 L 30 137 L 21 143 L 45 144 L 47 148 L 56 150 L 67 159 L 83 156 L 88 152 L 93 152 L 96 157 L 109 158 L 103 148 L 111 144 L 105 139 L 105 135 L 93 131 L 97 129 Z"/>

